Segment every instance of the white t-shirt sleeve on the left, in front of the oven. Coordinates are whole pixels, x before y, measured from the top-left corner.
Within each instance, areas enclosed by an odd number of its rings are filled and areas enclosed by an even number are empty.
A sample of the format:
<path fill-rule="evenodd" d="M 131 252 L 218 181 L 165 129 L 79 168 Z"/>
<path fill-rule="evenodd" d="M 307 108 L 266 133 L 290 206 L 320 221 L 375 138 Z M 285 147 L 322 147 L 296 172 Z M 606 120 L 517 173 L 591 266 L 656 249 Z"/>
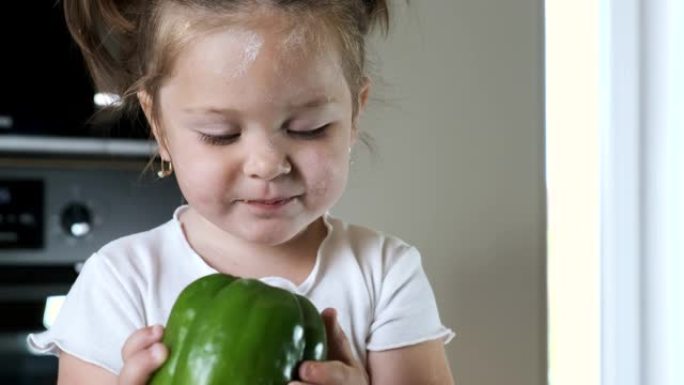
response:
<path fill-rule="evenodd" d="M 111 263 L 94 254 L 76 282 L 49 330 L 28 336 L 37 354 L 67 352 L 117 374 L 123 365 L 121 348 L 135 330 L 144 326 L 141 299 L 132 294 Z"/>

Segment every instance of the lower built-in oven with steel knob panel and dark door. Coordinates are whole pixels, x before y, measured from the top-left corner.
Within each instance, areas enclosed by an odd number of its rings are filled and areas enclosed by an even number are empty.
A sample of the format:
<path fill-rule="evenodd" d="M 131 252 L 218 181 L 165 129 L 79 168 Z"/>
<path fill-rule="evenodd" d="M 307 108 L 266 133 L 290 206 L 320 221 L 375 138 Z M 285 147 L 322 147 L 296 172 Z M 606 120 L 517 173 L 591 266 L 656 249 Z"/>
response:
<path fill-rule="evenodd" d="M 0 384 L 55 384 L 57 360 L 30 354 L 27 334 L 49 326 L 92 252 L 161 224 L 181 203 L 173 178 L 144 176 L 144 166 L 0 158 Z"/>

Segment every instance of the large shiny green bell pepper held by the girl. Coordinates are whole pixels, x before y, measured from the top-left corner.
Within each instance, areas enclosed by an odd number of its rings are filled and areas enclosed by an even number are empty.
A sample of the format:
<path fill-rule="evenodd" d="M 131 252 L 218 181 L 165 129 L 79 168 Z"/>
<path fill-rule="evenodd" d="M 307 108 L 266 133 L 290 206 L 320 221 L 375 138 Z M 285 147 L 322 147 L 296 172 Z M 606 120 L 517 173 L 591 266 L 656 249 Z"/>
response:
<path fill-rule="evenodd" d="M 150 385 L 286 385 L 326 358 L 325 326 L 305 297 L 256 279 L 212 274 L 176 300 Z"/>

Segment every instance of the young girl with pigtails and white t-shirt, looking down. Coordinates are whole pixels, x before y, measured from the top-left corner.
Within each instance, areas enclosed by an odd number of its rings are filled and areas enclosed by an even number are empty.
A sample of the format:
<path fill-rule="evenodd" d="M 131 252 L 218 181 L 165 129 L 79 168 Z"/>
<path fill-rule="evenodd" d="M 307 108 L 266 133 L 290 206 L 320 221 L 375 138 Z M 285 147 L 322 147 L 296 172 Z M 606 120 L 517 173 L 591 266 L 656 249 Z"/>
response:
<path fill-rule="evenodd" d="M 142 108 L 187 205 L 87 260 L 50 330 L 59 384 L 144 384 L 180 291 L 258 278 L 323 311 L 330 361 L 298 384 L 452 384 L 418 251 L 327 214 L 340 198 L 385 1 L 65 0 L 98 88 Z"/>

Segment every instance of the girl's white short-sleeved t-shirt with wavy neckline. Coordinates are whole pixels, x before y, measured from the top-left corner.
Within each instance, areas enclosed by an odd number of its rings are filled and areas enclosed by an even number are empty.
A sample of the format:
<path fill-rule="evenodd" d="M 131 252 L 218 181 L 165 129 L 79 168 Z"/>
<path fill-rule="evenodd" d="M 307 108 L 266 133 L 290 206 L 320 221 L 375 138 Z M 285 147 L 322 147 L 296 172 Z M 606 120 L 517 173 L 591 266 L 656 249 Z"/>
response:
<path fill-rule="evenodd" d="M 165 324 L 181 290 L 216 273 L 187 242 L 179 213 L 147 232 L 115 240 L 83 266 L 52 327 L 28 337 L 35 353 L 65 351 L 113 373 L 135 330 Z M 454 333 L 439 319 L 418 251 L 401 240 L 326 216 L 328 234 L 314 268 L 299 286 L 280 277 L 261 280 L 337 309 L 357 358 L 441 339 Z"/>

